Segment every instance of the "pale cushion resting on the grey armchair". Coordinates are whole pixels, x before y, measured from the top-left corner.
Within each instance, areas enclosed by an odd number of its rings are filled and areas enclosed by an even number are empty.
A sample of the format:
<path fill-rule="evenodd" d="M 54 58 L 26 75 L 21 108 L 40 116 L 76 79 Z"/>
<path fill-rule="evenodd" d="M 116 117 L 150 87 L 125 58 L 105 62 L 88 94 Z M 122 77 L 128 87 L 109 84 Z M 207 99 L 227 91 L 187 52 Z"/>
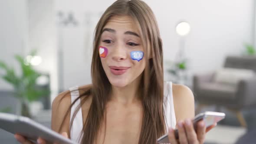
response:
<path fill-rule="evenodd" d="M 217 70 L 214 81 L 223 84 L 236 85 L 240 80 L 253 78 L 255 72 L 251 69 L 223 68 Z"/>

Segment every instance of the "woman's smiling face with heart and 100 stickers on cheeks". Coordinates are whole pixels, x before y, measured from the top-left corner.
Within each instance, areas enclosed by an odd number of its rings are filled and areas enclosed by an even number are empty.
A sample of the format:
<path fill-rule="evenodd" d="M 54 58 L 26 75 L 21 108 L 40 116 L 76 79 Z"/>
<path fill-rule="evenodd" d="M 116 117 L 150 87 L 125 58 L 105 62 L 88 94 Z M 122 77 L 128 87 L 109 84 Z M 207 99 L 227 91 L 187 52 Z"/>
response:
<path fill-rule="evenodd" d="M 113 16 L 103 28 L 99 44 L 102 67 L 109 82 L 124 87 L 140 81 L 146 60 L 143 52 L 141 36 L 132 18 Z"/>

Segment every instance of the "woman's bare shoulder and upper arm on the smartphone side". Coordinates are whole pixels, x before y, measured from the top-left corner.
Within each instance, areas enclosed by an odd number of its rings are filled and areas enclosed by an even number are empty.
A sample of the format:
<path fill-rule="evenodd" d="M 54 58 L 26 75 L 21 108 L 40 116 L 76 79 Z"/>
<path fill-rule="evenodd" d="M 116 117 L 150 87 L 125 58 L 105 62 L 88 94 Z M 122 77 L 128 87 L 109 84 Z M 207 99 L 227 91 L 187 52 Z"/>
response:
<path fill-rule="evenodd" d="M 174 111 L 176 120 L 194 118 L 194 95 L 190 88 L 185 85 L 172 85 Z"/>

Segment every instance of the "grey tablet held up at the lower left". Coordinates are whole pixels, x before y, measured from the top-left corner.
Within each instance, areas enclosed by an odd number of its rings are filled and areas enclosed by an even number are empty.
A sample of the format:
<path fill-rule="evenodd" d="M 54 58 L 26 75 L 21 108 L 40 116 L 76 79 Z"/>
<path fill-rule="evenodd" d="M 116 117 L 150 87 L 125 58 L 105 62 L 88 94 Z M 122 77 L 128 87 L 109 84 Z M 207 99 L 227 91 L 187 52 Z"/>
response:
<path fill-rule="evenodd" d="M 20 134 L 36 143 L 38 137 L 52 144 L 77 144 L 61 134 L 23 116 L 0 113 L 0 128 L 12 134 Z"/>

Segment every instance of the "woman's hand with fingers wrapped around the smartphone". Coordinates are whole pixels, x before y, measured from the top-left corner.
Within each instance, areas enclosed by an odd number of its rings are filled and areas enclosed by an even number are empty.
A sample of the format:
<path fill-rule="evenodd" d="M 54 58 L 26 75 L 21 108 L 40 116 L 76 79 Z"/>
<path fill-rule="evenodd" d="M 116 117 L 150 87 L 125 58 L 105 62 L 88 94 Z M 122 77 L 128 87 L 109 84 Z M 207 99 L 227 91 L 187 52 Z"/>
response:
<path fill-rule="evenodd" d="M 213 124 L 206 129 L 204 121 L 197 123 L 197 131 L 194 130 L 191 119 L 186 121 L 178 121 L 177 129 L 179 139 L 175 139 L 174 129 L 169 129 L 169 141 L 171 144 L 203 144 L 206 132 L 210 131 L 217 124 Z"/>

